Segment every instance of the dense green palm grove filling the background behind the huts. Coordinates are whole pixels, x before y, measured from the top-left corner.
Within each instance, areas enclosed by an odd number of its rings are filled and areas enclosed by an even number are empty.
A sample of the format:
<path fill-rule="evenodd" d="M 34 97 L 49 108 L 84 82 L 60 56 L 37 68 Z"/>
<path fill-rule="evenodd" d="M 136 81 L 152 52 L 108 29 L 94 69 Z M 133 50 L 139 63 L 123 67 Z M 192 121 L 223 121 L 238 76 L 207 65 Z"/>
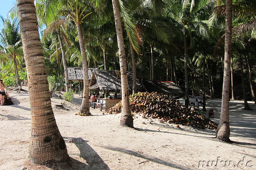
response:
<path fill-rule="evenodd" d="M 46 26 L 41 33 L 48 75 L 61 83 L 66 66 L 82 67 L 76 22 L 81 25 L 88 67 L 120 70 L 111 2 L 104 1 L 107 4 L 104 6 L 96 1 L 60 2 L 39 1 L 36 4 L 39 25 Z M 211 90 L 209 96 L 220 98 L 225 2 L 192 2 L 133 1 L 120 4 L 127 70 L 132 71 L 132 66 L 136 66 L 139 78 L 173 81 L 187 89 L 189 95 L 201 95 L 199 90 L 208 86 Z M 235 92 L 230 92 L 233 94 L 230 98 L 244 98 L 240 56 L 246 99 L 252 100 L 249 89 L 255 80 L 254 4 L 248 0 L 234 1 L 233 8 L 231 71 L 232 80 L 240 81 L 232 82 Z M 21 74 L 25 68 L 17 22 L 17 18 L 2 18 L 1 77 L 8 85 L 19 84 L 17 72 Z M 135 64 L 132 64 L 133 57 Z"/>

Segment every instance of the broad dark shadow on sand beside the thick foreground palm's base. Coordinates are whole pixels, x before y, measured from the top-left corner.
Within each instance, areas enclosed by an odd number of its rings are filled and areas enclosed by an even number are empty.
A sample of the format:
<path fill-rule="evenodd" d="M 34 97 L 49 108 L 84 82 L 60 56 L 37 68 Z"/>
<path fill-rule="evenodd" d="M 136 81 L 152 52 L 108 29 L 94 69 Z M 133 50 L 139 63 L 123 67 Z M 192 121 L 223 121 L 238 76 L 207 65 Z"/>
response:
<path fill-rule="evenodd" d="M 82 139 L 81 137 L 78 138 L 70 138 L 70 137 L 63 137 L 66 143 L 69 143 L 68 140 L 73 140 L 73 143 L 79 149 L 79 153 L 69 153 L 69 155 L 79 156 L 86 161 L 87 164 L 80 162 L 76 159 L 71 158 L 71 165 L 73 169 L 102 169 L 102 170 L 110 170 L 108 165 L 105 164 L 104 160 L 100 158 L 94 149 L 87 144 L 88 141 Z M 69 168 L 70 169 L 70 168 Z"/>

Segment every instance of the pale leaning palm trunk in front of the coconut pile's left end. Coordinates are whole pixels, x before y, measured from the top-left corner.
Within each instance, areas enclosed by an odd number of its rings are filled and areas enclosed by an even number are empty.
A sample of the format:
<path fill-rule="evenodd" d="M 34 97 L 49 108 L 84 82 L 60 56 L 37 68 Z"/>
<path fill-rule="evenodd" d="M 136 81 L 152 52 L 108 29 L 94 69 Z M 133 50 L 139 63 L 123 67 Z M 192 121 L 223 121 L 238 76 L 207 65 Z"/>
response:
<path fill-rule="evenodd" d="M 116 35 L 117 35 L 117 44 L 120 60 L 120 70 L 121 70 L 121 86 L 122 86 L 122 114 L 120 119 L 121 126 L 128 126 L 133 128 L 133 118 L 131 114 L 131 108 L 129 103 L 129 89 L 128 89 L 128 78 L 126 71 L 126 62 L 125 61 L 125 51 L 124 51 L 124 37 L 122 30 L 122 22 L 119 10 L 118 0 L 112 0 L 115 25 L 116 25 Z"/>

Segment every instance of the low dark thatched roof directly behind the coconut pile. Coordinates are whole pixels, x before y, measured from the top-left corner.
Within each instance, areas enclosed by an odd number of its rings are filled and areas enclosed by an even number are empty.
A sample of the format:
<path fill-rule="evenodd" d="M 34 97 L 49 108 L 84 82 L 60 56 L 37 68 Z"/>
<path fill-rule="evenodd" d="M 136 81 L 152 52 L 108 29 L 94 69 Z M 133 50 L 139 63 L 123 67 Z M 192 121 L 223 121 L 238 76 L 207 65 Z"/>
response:
<path fill-rule="evenodd" d="M 184 92 L 173 82 L 143 81 L 147 92 L 158 92 L 172 94 L 173 96 L 184 96 Z"/>

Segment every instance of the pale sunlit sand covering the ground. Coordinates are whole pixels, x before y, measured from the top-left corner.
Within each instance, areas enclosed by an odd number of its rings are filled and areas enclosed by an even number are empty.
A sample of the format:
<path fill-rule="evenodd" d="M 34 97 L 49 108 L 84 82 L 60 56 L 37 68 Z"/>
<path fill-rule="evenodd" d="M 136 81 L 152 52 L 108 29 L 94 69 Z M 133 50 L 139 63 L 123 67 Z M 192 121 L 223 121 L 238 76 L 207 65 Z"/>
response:
<path fill-rule="evenodd" d="M 134 127 L 138 130 L 120 127 L 120 114 L 102 115 L 99 109 L 90 110 L 93 116 L 78 116 L 75 113 L 79 112 L 82 101 L 78 95 L 72 103 L 52 99 L 55 118 L 71 157 L 71 162 L 58 168 L 29 165 L 29 95 L 27 91 L 12 91 L 10 96 L 15 105 L 0 106 L 1 170 L 18 170 L 24 166 L 61 170 L 185 170 L 198 166 L 199 169 L 256 169 L 256 104 L 253 102 L 249 102 L 252 111 L 243 110 L 243 101 L 230 102 L 230 139 L 235 144 L 227 144 L 213 139 L 212 130 L 181 125 L 178 129 L 158 120 L 150 124 L 139 115 L 134 117 Z M 69 110 L 55 108 L 61 102 Z M 212 120 L 216 123 L 219 123 L 220 105 L 221 100 L 207 100 L 206 109 L 215 110 Z M 68 143 L 70 139 L 74 142 Z M 217 167 L 210 164 L 206 167 L 205 162 L 203 167 L 199 164 L 199 161 L 217 159 Z M 232 161 L 232 165 L 223 168 L 224 161 Z"/>

